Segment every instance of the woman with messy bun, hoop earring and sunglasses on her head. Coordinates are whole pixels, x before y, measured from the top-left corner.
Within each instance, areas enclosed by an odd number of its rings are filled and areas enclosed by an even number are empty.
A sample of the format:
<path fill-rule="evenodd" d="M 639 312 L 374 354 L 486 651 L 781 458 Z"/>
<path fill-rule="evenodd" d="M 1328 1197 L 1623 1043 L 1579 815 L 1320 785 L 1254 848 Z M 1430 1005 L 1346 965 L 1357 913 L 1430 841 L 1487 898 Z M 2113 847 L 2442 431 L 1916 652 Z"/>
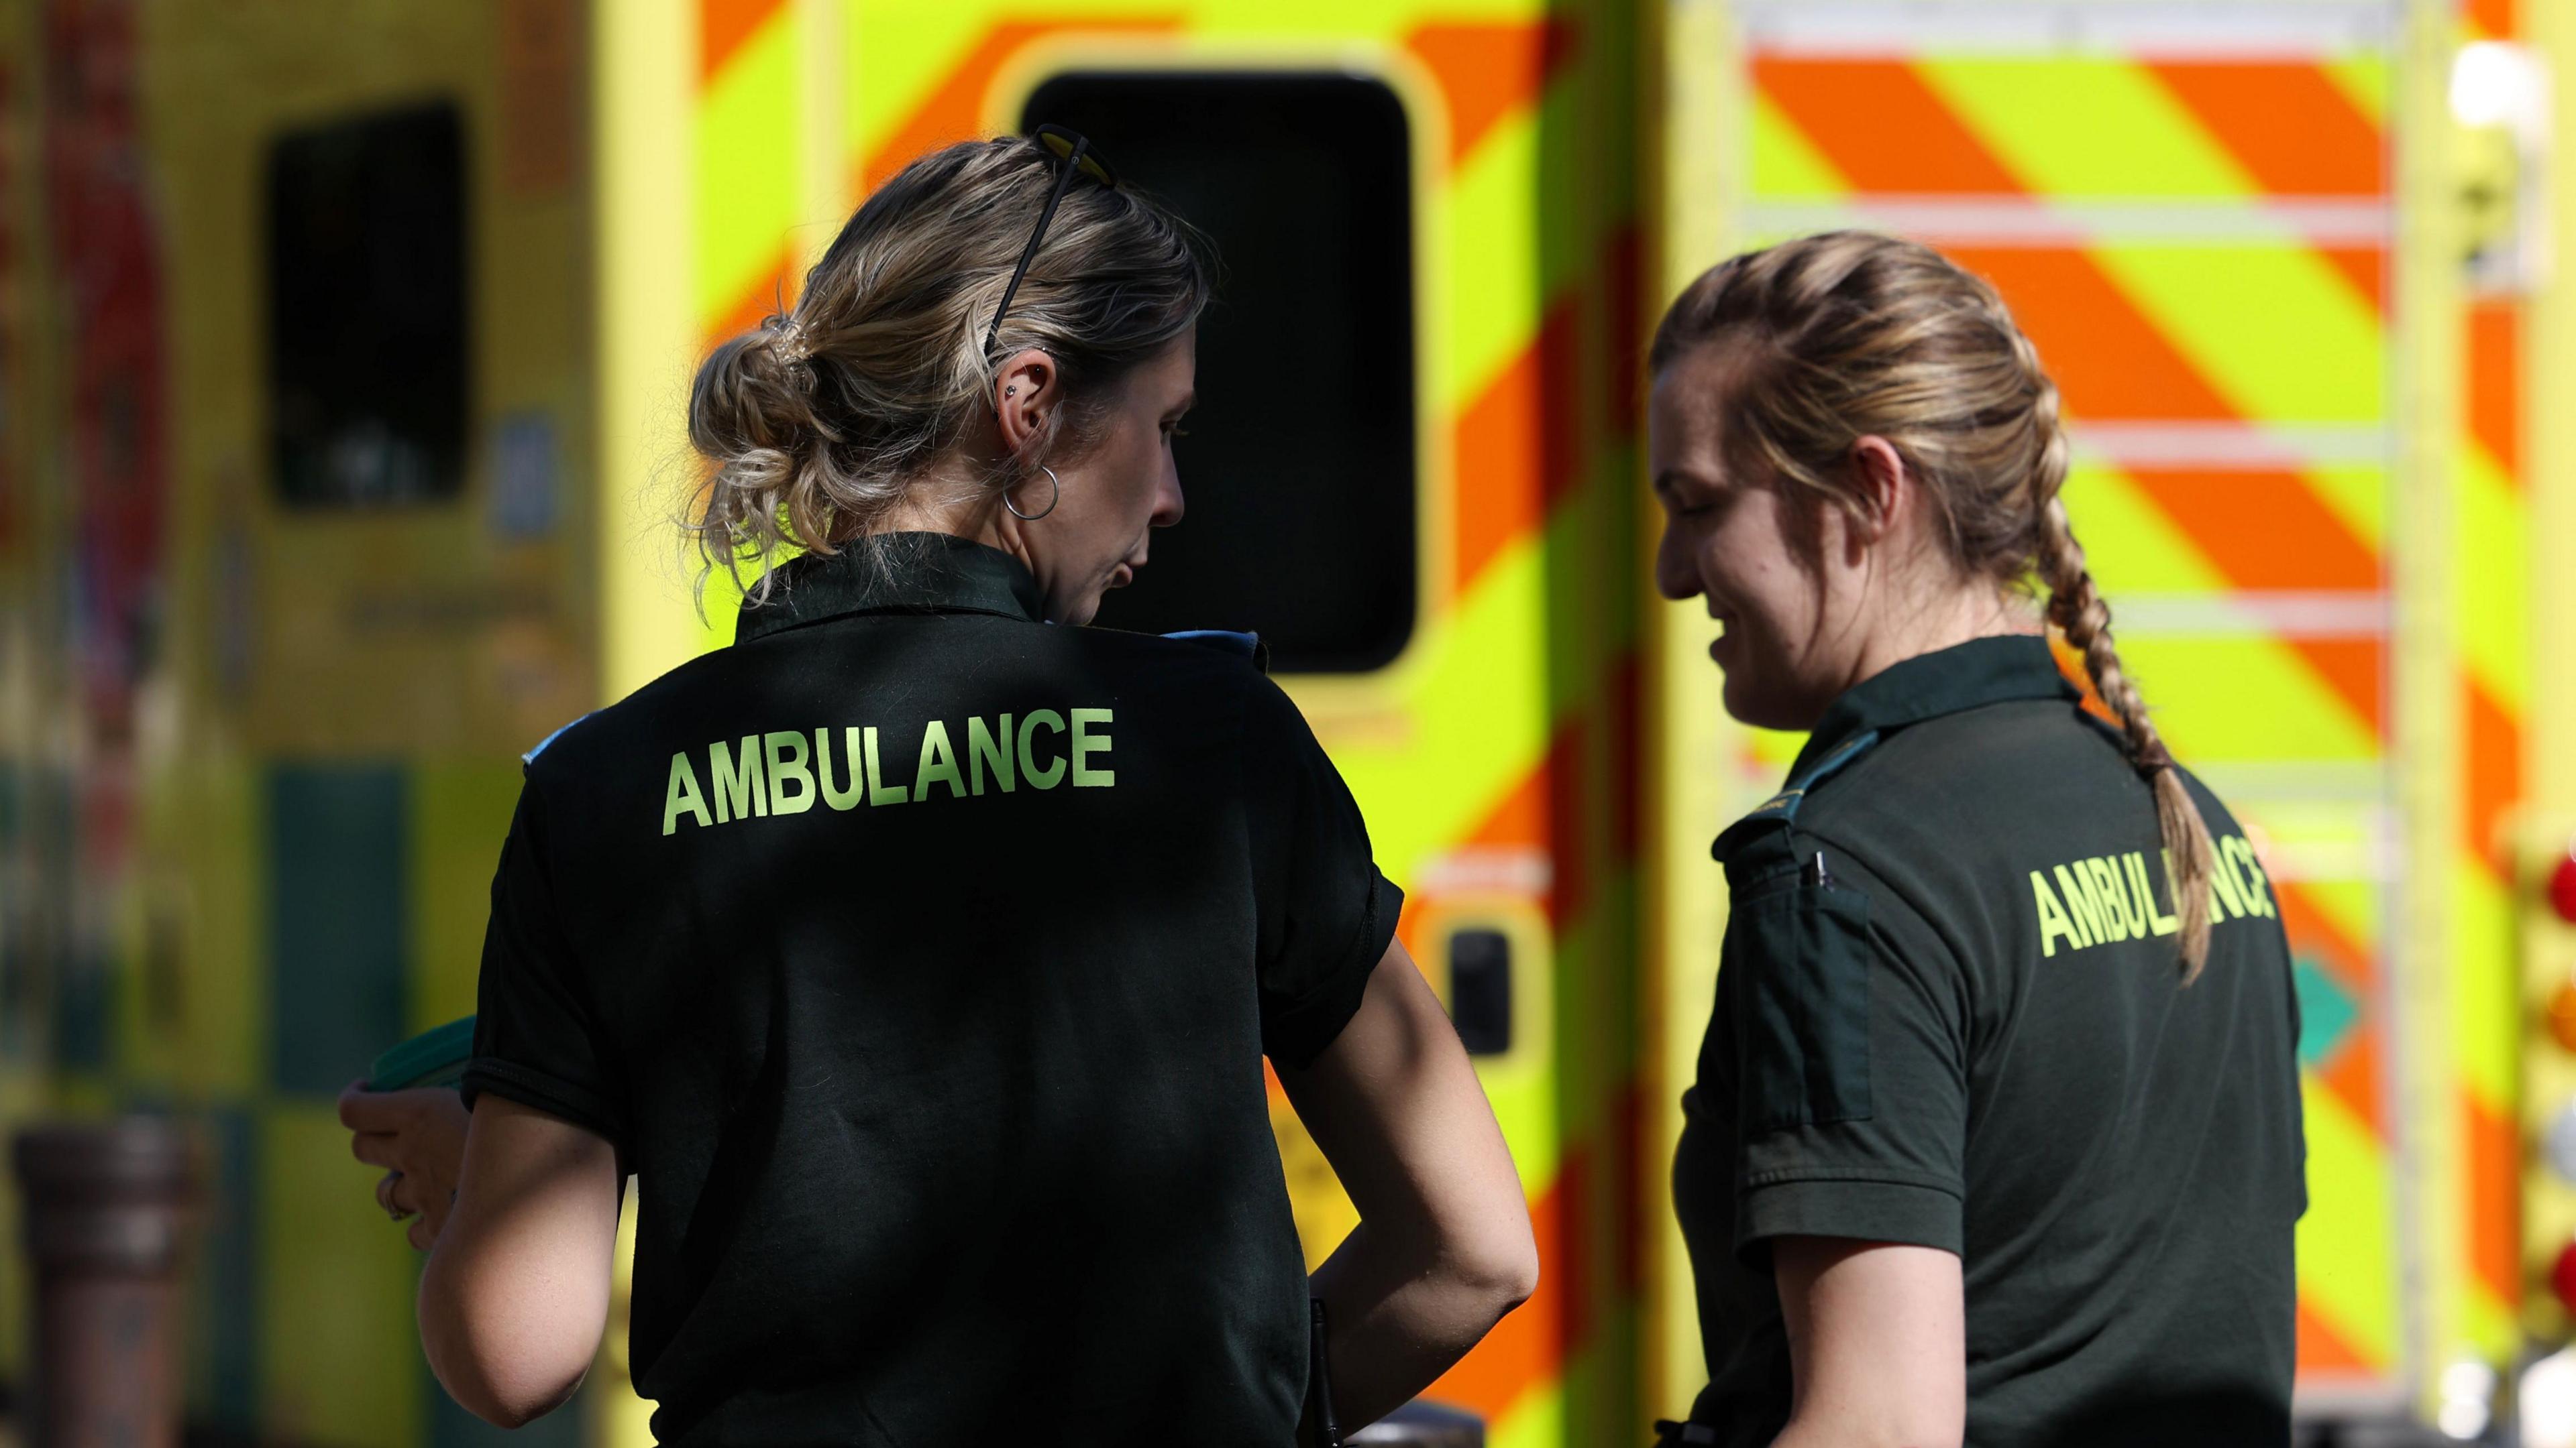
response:
<path fill-rule="evenodd" d="M 734 647 L 528 757 L 461 1175 L 453 1095 L 343 1103 L 464 1407 L 580 1384 L 626 1172 L 662 1443 L 1285 1445 L 1530 1293 L 1492 1108 L 1288 696 L 1249 642 L 1074 629 L 1180 520 L 1206 299 L 1195 234 L 1041 129 L 909 165 L 706 361 Z M 1314 1278 L 1265 1054 L 1360 1206 Z"/>

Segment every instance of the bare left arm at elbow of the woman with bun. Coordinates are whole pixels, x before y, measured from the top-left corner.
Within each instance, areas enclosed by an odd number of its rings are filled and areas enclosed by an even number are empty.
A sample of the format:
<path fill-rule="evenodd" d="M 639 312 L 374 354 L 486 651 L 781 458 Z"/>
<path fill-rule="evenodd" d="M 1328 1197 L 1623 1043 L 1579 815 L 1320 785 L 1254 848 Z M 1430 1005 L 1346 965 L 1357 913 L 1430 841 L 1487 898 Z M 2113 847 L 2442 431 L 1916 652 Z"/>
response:
<path fill-rule="evenodd" d="M 469 1412 L 502 1427 L 572 1396 L 600 1350 L 618 1237 L 616 1149 L 484 1095 L 456 1206 L 420 1275 L 420 1345 Z"/>

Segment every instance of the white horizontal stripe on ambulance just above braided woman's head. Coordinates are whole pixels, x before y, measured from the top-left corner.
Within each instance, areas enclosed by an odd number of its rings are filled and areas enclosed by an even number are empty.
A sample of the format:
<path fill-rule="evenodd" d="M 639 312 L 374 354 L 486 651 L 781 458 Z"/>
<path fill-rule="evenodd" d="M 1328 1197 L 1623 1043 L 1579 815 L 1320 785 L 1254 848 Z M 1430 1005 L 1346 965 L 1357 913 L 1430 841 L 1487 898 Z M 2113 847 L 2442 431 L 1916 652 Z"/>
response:
<path fill-rule="evenodd" d="M 2035 196 L 1868 196 L 1754 201 L 1757 240 L 1808 232 L 1899 232 L 1953 247 L 2081 247 L 2092 242 L 2388 245 L 2385 196 L 2326 201 L 2050 201 Z"/>

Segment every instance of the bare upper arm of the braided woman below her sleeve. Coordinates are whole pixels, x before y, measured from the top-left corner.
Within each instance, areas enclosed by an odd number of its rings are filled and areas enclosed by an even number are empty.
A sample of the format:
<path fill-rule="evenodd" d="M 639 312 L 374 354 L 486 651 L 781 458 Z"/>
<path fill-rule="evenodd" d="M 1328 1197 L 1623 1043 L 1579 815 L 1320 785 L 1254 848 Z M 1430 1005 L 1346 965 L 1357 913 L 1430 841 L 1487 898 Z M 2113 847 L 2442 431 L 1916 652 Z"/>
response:
<path fill-rule="evenodd" d="M 1958 1257 L 1780 1237 L 1772 1281 L 1795 1394 L 1772 1448 L 1955 1448 L 1968 1430 Z"/>

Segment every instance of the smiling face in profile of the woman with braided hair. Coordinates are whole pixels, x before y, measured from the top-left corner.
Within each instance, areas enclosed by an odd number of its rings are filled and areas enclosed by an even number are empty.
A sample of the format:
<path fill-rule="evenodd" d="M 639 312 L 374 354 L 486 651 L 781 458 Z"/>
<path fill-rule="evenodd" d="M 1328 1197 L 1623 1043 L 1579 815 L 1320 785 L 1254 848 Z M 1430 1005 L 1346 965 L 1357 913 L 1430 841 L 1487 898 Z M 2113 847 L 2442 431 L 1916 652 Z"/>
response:
<path fill-rule="evenodd" d="M 1728 714 L 1808 729 L 1850 683 L 1852 629 L 1829 569 L 1808 564 L 1790 533 L 1798 502 L 1726 461 L 1728 363 L 1726 348 L 1698 348 L 1654 379 L 1646 461 L 1664 505 L 1654 582 L 1664 598 L 1705 600 L 1718 621 L 1708 654 L 1726 670 Z M 1844 541 L 1839 510 L 1816 513 L 1819 551 L 1832 557 Z"/>

